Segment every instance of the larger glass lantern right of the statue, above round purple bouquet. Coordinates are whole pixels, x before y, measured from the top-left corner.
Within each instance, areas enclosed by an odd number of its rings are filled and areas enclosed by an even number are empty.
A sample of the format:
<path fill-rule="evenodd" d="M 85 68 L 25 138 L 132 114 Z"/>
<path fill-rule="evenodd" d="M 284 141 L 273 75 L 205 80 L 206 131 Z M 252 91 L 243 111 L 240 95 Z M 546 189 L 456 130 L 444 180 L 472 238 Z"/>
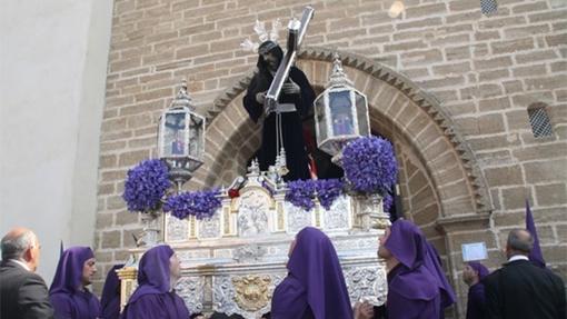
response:
<path fill-rule="evenodd" d="M 315 117 L 317 147 L 337 163 L 346 143 L 370 134 L 366 96 L 352 87 L 337 53 L 329 83 L 315 100 Z"/>

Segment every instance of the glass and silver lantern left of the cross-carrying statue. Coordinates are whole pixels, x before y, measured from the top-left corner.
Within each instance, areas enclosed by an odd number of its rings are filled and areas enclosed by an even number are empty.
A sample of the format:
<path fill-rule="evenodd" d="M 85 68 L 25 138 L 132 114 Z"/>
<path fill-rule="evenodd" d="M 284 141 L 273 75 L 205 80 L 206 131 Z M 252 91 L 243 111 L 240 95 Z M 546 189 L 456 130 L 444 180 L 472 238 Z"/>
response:
<path fill-rule="evenodd" d="M 186 182 L 203 163 L 205 117 L 195 112 L 187 82 L 159 120 L 158 154 L 176 182 Z"/>

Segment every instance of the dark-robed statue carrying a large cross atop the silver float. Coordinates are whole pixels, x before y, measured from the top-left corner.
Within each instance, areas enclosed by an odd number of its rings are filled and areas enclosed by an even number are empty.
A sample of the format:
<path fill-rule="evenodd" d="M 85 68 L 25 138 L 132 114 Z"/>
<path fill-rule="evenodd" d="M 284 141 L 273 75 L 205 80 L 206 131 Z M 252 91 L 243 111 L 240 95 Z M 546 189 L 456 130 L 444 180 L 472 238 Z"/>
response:
<path fill-rule="evenodd" d="M 267 171 L 276 165 L 278 154 L 282 154 L 281 149 L 285 149 L 288 173 L 284 179 L 287 181 L 310 178 L 301 118 L 312 107 L 315 91 L 294 61 L 311 17 L 312 9 L 307 7 L 301 22 L 290 22 L 286 54 L 276 41 L 263 38 L 258 48 L 258 72 L 243 98 L 243 106 L 252 121 L 258 122 L 262 114 L 266 116 L 258 152 L 260 170 Z"/>

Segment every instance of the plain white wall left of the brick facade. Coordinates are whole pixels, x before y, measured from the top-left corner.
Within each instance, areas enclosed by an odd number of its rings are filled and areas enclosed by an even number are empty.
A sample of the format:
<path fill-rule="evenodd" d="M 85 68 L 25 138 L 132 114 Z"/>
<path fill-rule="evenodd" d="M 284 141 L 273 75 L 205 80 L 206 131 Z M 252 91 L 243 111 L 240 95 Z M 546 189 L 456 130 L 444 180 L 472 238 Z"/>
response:
<path fill-rule="evenodd" d="M 112 0 L 0 0 L 0 233 L 91 246 Z"/>

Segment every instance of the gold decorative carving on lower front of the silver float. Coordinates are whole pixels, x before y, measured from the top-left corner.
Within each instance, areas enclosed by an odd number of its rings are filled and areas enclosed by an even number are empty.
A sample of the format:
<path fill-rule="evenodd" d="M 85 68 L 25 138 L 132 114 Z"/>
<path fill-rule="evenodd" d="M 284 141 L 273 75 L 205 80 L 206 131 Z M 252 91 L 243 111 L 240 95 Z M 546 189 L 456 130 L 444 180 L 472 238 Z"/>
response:
<path fill-rule="evenodd" d="M 240 309 L 256 311 L 268 305 L 268 296 L 271 278 L 265 276 L 248 275 L 243 277 L 233 277 L 235 301 Z"/>

